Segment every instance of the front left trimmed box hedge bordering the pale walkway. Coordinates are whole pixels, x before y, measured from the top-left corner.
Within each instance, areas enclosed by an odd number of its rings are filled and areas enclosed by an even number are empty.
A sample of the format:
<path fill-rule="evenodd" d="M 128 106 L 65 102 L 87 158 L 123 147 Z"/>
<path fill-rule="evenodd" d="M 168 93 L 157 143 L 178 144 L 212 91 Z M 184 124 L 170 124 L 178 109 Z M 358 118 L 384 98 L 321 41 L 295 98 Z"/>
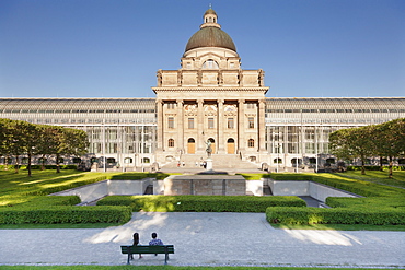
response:
<path fill-rule="evenodd" d="M 3 207 L 0 224 L 126 223 L 131 215 L 128 207 Z"/>

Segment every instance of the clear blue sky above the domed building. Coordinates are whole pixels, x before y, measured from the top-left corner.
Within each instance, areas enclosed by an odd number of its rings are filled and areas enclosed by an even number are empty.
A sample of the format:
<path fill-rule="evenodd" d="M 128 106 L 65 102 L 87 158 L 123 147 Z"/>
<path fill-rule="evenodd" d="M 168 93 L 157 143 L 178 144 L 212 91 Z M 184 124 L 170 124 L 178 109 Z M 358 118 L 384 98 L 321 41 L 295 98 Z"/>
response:
<path fill-rule="evenodd" d="M 268 97 L 405 96 L 404 0 L 1 0 L 0 97 L 154 97 L 210 3 Z"/>

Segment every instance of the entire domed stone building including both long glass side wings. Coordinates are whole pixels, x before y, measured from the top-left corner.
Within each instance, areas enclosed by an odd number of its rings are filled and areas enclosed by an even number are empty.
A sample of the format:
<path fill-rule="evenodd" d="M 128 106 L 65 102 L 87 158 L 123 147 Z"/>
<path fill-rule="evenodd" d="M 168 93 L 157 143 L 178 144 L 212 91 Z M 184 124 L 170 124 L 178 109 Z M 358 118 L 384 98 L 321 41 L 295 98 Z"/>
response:
<path fill-rule="evenodd" d="M 85 130 L 89 153 L 63 163 L 124 171 L 195 167 L 207 142 L 215 168 L 317 167 L 337 162 L 331 132 L 405 117 L 405 97 L 266 97 L 264 78 L 208 9 L 181 68 L 158 70 L 155 98 L 0 98 L 0 117 Z"/>

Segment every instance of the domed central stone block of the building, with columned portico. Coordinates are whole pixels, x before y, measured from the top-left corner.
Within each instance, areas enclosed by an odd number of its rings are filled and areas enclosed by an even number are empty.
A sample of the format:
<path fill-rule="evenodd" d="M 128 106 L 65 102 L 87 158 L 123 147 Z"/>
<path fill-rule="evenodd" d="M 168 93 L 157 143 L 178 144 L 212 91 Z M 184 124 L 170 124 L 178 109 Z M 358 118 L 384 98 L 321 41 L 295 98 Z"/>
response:
<path fill-rule="evenodd" d="M 200 30 L 188 40 L 181 69 L 159 70 L 157 161 L 197 161 L 238 155 L 261 161 L 265 151 L 264 71 L 242 70 L 232 38 L 217 13 L 204 14 Z M 259 136 L 262 134 L 262 136 Z"/>

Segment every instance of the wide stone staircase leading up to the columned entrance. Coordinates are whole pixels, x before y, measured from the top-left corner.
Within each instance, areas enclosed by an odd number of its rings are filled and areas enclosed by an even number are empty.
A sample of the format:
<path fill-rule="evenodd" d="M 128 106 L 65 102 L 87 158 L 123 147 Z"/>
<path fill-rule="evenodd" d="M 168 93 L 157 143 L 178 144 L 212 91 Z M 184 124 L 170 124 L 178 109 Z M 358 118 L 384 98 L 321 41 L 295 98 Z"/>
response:
<path fill-rule="evenodd" d="M 202 160 L 207 159 L 204 156 Z M 220 168 L 243 168 L 243 169 L 257 169 L 259 164 L 241 161 L 238 154 L 212 154 L 212 166 L 213 169 Z M 196 154 L 183 154 L 181 157 L 181 167 L 184 168 L 200 168 L 201 156 Z M 184 162 L 184 166 L 183 166 Z M 196 164 L 197 163 L 197 164 Z M 177 167 L 177 162 L 171 162 L 163 165 L 164 168 L 175 168 Z"/>

